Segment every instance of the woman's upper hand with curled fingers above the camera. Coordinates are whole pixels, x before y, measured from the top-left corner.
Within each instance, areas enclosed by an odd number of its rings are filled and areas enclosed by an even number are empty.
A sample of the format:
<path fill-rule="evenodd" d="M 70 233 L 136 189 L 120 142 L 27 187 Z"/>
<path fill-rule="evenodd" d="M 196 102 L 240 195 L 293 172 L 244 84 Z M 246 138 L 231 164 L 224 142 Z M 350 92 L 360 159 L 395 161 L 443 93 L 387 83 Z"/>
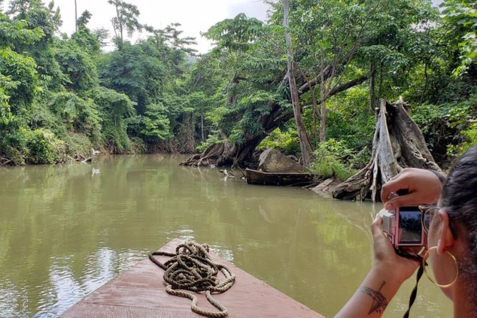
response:
<path fill-rule="evenodd" d="M 407 194 L 390 199 L 392 192 L 407 190 Z M 429 170 L 405 168 L 383 185 L 381 201 L 385 209 L 393 210 L 402 206 L 435 204 L 442 191 L 441 180 Z"/>

